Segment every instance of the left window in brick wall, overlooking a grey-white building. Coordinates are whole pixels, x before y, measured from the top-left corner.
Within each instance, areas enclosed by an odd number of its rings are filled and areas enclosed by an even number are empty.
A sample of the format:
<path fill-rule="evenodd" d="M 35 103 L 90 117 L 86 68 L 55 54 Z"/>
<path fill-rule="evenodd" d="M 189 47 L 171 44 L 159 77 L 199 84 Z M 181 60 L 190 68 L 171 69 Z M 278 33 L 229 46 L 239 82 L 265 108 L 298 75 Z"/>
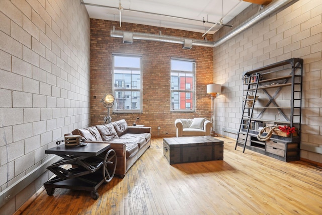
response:
<path fill-rule="evenodd" d="M 142 110 L 142 57 L 137 55 L 113 54 L 113 111 L 119 113 L 141 112 Z"/>

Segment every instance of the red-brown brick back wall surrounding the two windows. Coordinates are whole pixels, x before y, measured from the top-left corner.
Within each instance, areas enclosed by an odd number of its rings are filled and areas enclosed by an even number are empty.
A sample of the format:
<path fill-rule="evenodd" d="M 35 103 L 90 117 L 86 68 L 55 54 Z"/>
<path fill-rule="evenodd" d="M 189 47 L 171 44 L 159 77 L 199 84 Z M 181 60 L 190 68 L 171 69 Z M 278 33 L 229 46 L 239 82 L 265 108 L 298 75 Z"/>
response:
<path fill-rule="evenodd" d="M 182 44 L 134 40 L 133 44 L 123 44 L 122 38 L 110 37 L 113 26 L 116 30 L 144 32 L 151 34 L 202 39 L 201 33 L 158 28 L 135 24 L 91 19 L 91 124 L 103 123 L 107 114 L 100 102 L 101 98 L 112 92 L 111 68 L 112 53 L 140 54 L 143 59 L 143 113 L 112 114 L 112 121 L 125 119 L 130 125 L 136 117 L 137 124 L 150 126 L 152 136 L 175 135 L 176 118 L 207 117 L 211 115 L 211 99 L 206 94 L 206 85 L 212 83 L 212 48 L 193 46 L 191 50 L 182 49 Z M 211 40 L 211 37 L 208 38 Z M 196 112 L 170 112 L 170 58 L 182 57 L 196 60 Z M 94 98 L 96 96 L 96 99 Z"/>

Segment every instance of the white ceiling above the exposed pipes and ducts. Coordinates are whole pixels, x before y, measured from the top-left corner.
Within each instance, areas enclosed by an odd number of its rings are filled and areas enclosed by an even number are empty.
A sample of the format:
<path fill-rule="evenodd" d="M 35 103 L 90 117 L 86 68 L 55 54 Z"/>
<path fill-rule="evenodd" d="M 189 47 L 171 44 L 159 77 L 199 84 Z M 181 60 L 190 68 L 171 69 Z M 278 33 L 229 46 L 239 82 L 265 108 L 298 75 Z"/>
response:
<path fill-rule="evenodd" d="M 118 21 L 120 0 L 81 0 L 90 18 Z M 97 5 L 97 6 L 93 6 Z M 251 3 L 239 0 L 121 0 L 122 25 L 135 23 L 213 34 Z M 106 7 L 104 7 L 106 6 Z M 145 12 L 145 13 L 144 13 Z M 182 19 L 183 18 L 183 19 Z M 203 23 L 203 20 L 206 22 Z"/>

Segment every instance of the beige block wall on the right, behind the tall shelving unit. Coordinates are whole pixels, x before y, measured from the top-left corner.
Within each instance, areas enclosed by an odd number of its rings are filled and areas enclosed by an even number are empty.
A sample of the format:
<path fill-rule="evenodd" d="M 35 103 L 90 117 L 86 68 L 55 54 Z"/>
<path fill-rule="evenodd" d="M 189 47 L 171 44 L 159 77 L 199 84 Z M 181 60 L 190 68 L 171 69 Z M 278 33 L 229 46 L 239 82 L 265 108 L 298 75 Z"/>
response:
<path fill-rule="evenodd" d="M 252 5 L 230 24 L 241 22 L 258 12 Z M 216 41 L 230 29 L 222 28 L 214 35 Z M 214 80 L 222 84 L 216 98 L 216 131 L 238 130 L 241 117 L 241 76 L 244 71 L 284 59 L 303 58 L 301 144 L 322 147 L 322 2 L 299 0 L 292 6 L 271 15 L 264 21 L 214 48 Z M 322 155 L 301 150 L 301 158 L 322 163 Z"/>

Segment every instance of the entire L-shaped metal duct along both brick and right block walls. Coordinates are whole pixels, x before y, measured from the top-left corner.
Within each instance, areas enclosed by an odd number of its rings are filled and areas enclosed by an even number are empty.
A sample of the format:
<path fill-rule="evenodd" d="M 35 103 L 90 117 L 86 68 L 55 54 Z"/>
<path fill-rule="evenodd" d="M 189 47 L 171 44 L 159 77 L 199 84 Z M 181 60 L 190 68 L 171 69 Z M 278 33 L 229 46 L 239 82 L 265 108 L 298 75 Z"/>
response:
<path fill-rule="evenodd" d="M 231 32 L 229 32 L 228 34 L 226 34 L 225 36 L 221 37 L 219 40 L 214 42 L 206 41 L 206 40 L 188 39 L 184 37 L 164 36 L 161 34 L 157 35 L 157 34 L 148 34 L 148 33 L 119 31 L 119 30 L 115 30 L 115 27 L 113 27 L 113 30 L 111 30 L 111 37 L 124 38 L 124 33 L 125 33 L 125 34 L 132 34 L 133 35 L 132 39 L 138 39 L 138 40 L 169 42 L 169 43 L 177 43 L 177 44 L 185 44 L 185 40 L 186 41 L 192 40 L 192 45 L 195 45 L 195 46 L 216 47 L 226 42 L 227 40 L 231 39 L 232 37 L 236 36 L 237 34 L 245 31 L 246 29 L 250 28 L 256 23 L 262 21 L 267 16 L 273 13 L 277 13 L 278 10 L 280 10 L 282 7 L 288 4 L 292 5 L 297 1 L 298 0 L 275 0 L 274 2 L 266 6 L 263 10 L 259 11 L 258 14 L 255 14 L 254 16 L 252 16 L 251 18 L 249 18 L 248 20 L 246 20 L 245 22 L 237 26 Z"/>

